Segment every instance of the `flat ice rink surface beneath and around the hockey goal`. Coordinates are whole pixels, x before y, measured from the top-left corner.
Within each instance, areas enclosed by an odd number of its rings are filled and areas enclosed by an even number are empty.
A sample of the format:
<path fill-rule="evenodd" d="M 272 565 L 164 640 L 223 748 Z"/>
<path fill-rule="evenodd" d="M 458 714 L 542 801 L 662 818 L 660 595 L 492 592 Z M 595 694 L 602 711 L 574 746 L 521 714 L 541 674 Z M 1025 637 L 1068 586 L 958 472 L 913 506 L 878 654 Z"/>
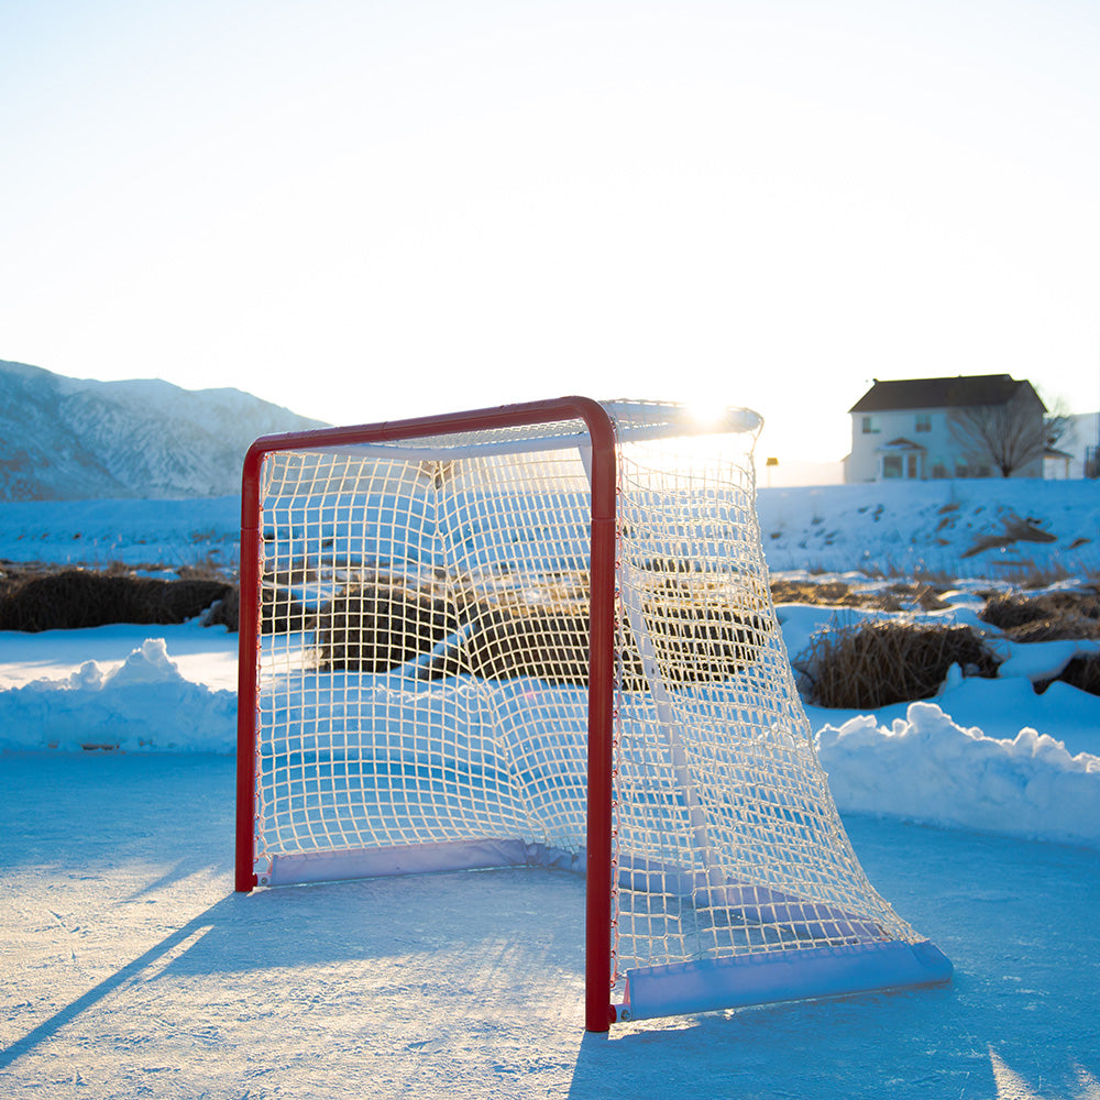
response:
<path fill-rule="evenodd" d="M 862 815 L 944 988 L 583 1032 L 583 883 L 232 892 L 232 761 L 0 759 L 0 1096 L 1032 1100 L 1100 1094 L 1100 855 Z"/>

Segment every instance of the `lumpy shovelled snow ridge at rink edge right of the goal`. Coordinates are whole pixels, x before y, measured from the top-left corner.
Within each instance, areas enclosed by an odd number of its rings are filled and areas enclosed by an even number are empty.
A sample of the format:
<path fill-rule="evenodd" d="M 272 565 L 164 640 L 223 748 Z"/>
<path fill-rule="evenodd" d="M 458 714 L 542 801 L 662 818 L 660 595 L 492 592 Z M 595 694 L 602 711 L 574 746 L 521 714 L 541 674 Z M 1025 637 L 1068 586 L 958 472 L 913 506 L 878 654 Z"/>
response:
<path fill-rule="evenodd" d="M 817 757 L 842 813 L 1100 848 L 1100 757 L 1031 728 L 1001 740 L 911 703 L 890 726 L 871 715 L 825 726 Z"/>

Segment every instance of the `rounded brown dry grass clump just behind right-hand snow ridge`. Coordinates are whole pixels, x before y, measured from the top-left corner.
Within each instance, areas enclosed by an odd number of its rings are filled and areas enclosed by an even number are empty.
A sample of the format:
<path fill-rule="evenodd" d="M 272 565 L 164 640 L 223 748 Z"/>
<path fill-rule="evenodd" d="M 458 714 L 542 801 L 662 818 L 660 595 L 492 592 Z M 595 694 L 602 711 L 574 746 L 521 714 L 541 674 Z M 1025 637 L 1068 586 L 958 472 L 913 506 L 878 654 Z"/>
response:
<path fill-rule="evenodd" d="M 807 667 L 810 701 L 838 710 L 873 710 L 928 698 L 958 664 L 997 674 L 997 659 L 968 626 L 865 620 L 817 635 Z"/>

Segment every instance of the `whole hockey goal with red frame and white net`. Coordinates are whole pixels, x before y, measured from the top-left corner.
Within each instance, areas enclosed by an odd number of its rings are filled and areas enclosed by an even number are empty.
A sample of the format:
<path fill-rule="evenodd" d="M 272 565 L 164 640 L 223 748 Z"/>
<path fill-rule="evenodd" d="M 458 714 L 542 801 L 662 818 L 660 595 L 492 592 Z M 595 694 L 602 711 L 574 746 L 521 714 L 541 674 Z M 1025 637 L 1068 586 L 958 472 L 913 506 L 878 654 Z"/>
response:
<path fill-rule="evenodd" d="M 947 980 L 814 755 L 759 426 L 570 397 L 257 440 L 237 889 L 573 869 L 591 1031 Z"/>

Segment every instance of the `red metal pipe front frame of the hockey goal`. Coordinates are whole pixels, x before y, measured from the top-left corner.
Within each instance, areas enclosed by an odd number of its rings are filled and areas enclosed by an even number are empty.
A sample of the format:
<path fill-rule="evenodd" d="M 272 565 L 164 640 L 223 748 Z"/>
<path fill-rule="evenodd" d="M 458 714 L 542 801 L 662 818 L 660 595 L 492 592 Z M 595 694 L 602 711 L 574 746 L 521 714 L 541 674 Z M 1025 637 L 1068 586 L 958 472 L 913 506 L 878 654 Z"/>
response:
<path fill-rule="evenodd" d="M 615 692 L 616 439 L 607 411 L 587 397 L 475 409 L 344 428 L 264 436 L 244 460 L 241 495 L 241 609 L 237 727 L 235 889 L 258 883 L 254 870 L 256 716 L 258 706 L 261 479 L 264 460 L 280 451 L 337 449 L 418 436 L 449 436 L 561 420 L 581 420 L 592 448 L 587 811 L 585 884 L 585 1027 L 606 1032 L 616 1019 L 612 989 L 613 716 Z"/>

